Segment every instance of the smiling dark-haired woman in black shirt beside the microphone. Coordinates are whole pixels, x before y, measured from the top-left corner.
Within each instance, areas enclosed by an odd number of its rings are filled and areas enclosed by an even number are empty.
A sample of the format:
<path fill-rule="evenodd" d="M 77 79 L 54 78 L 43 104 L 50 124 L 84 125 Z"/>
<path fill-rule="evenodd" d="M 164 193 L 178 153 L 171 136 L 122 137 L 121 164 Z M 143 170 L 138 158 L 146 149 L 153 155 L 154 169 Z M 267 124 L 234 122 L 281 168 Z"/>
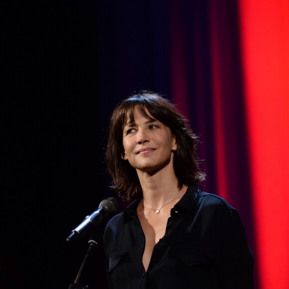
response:
<path fill-rule="evenodd" d="M 253 259 L 238 211 L 198 186 L 197 136 L 176 106 L 141 91 L 111 116 L 113 188 L 133 201 L 107 224 L 111 289 L 251 289 Z"/>

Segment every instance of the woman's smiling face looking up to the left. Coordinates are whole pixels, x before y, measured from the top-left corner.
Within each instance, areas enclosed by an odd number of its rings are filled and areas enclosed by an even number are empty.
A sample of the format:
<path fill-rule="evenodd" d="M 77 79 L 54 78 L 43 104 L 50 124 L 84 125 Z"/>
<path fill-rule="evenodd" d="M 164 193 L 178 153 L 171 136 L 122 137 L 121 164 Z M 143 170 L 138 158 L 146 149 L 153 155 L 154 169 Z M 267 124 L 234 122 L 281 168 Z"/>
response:
<path fill-rule="evenodd" d="M 128 119 L 123 131 L 125 154 L 137 170 L 153 173 L 173 161 L 173 150 L 177 145 L 168 127 L 159 121 L 142 116 L 138 107 L 134 111 L 135 123 Z"/>

